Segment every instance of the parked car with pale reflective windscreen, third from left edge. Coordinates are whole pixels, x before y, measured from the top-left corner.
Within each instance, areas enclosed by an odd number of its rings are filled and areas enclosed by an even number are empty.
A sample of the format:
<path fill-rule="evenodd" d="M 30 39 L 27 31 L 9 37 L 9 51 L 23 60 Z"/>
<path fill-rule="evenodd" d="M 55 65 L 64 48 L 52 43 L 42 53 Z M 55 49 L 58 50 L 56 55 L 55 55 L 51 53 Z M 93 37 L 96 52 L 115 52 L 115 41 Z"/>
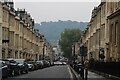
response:
<path fill-rule="evenodd" d="M 27 64 L 27 62 L 26 62 L 26 60 L 25 59 L 14 59 L 16 62 L 17 62 L 17 64 L 18 64 L 18 66 L 19 66 L 19 68 L 20 68 L 20 73 L 21 74 L 23 74 L 23 73 L 28 73 L 28 71 L 29 71 L 29 67 L 28 67 L 28 64 Z"/>

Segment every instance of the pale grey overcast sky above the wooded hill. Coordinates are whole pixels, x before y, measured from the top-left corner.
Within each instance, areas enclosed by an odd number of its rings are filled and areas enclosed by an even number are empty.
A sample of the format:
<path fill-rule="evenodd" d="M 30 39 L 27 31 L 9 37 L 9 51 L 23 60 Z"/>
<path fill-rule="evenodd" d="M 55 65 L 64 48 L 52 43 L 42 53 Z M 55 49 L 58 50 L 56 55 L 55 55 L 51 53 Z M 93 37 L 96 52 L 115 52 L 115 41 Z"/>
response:
<path fill-rule="evenodd" d="M 89 22 L 91 12 L 95 6 L 98 6 L 100 1 L 96 2 L 79 2 L 71 0 L 50 0 L 46 2 L 25 0 L 15 1 L 15 9 L 26 9 L 31 14 L 36 23 L 43 21 L 58 21 L 58 20 L 72 20 L 78 22 Z"/>

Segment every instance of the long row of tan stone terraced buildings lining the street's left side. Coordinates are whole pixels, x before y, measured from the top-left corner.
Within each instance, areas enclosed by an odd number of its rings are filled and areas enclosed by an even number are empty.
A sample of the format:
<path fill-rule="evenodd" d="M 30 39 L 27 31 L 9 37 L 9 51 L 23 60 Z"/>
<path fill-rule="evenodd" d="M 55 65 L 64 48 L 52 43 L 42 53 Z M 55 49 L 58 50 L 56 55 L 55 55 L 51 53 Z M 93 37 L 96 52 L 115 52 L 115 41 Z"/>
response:
<path fill-rule="evenodd" d="M 3 2 L 2 7 L 2 58 L 40 60 L 48 55 L 47 42 L 34 28 L 34 19 L 25 9 L 14 9 L 14 2 Z M 44 48 L 44 49 L 43 49 Z M 43 51 L 44 50 L 44 51 Z"/>

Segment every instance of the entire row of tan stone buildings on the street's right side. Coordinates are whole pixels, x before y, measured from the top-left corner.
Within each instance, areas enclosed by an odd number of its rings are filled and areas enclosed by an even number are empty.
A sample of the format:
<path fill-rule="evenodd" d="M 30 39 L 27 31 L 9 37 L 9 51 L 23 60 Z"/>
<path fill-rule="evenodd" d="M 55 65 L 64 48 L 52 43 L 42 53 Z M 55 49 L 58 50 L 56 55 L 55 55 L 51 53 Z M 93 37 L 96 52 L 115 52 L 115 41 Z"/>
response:
<path fill-rule="evenodd" d="M 119 19 L 120 1 L 101 2 L 93 9 L 91 20 L 82 38 L 83 44 L 88 48 L 88 59 L 119 61 Z"/>

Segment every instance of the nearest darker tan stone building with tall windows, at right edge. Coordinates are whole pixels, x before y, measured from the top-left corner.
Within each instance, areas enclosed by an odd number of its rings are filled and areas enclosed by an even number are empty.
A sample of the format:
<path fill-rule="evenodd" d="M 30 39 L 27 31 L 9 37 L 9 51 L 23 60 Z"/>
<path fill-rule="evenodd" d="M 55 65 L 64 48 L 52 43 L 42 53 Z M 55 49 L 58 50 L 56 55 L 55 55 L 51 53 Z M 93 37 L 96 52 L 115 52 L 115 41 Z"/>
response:
<path fill-rule="evenodd" d="M 108 25 L 109 25 L 109 43 L 108 49 L 109 57 L 113 61 L 120 61 L 120 5 L 119 9 L 108 16 Z"/>

